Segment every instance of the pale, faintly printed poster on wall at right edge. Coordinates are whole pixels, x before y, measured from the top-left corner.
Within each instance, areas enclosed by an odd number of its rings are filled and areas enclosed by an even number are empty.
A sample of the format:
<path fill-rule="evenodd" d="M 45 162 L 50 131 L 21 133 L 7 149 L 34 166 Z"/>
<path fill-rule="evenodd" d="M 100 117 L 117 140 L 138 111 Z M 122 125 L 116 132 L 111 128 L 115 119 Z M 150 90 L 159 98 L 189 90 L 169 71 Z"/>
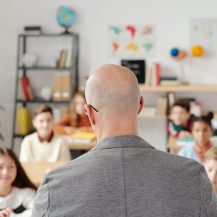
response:
<path fill-rule="evenodd" d="M 200 45 L 209 54 L 217 54 L 217 18 L 191 20 L 191 45 Z"/>

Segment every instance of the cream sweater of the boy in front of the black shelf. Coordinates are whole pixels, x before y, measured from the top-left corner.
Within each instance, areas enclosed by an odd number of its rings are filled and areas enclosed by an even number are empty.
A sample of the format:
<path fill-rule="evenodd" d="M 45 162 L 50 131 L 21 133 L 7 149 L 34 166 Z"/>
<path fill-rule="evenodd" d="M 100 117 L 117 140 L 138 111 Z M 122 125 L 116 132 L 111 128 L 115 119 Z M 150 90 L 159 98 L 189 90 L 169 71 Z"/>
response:
<path fill-rule="evenodd" d="M 55 135 L 50 142 L 39 140 L 38 134 L 33 133 L 24 138 L 20 149 L 20 161 L 69 161 L 70 152 L 66 141 Z"/>

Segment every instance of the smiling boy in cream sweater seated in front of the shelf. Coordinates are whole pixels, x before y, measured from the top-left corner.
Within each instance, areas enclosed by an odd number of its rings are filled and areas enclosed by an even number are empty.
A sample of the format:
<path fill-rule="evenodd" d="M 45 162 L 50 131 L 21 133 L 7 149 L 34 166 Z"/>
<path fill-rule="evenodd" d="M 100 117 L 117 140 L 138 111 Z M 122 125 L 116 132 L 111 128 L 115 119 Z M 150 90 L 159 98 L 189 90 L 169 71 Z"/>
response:
<path fill-rule="evenodd" d="M 70 152 L 65 140 L 53 132 L 53 111 L 47 105 L 38 108 L 33 119 L 36 132 L 24 138 L 20 161 L 69 161 Z"/>

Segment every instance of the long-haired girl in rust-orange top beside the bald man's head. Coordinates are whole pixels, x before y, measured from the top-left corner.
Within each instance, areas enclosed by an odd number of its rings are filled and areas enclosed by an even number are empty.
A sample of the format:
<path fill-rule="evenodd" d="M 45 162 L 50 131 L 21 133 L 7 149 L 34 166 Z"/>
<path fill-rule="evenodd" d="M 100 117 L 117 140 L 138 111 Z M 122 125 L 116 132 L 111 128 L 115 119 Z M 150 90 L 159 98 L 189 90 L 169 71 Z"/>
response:
<path fill-rule="evenodd" d="M 90 121 L 84 113 L 86 104 L 83 91 L 79 91 L 72 99 L 70 111 L 54 124 L 54 132 L 60 135 L 72 135 L 75 132 L 92 132 Z"/>

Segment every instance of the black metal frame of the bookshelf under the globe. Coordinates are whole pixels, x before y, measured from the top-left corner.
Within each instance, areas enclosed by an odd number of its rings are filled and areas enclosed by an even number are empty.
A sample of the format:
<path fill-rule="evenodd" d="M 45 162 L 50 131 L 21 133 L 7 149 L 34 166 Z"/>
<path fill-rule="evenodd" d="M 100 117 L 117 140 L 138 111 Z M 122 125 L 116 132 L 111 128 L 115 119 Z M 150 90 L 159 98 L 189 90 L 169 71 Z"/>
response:
<path fill-rule="evenodd" d="M 67 34 L 56 34 L 56 33 L 47 33 L 47 34 L 31 34 L 31 30 L 26 34 L 19 34 L 18 35 L 18 43 L 17 43 L 17 66 L 16 66 L 16 83 L 15 83 L 15 101 L 14 101 L 14 112 L 13 112 L 13 130 L 12 130 L 12 144 L 11 148 L 14 149 L 15 145 L 15 138 L 22 139 L 25 137 L 24 135 L 20 135 L 16 133 L 16 126 L 17 126 L 17 108 L 18 107 L 27 107 L 28 105 L 36 105 L 36 104 L 57 104 L 57 105 L 67 105 L 69 106 L 71 98 L 75 94 L 76 91 L 78 91 L 79 87 L 79 71 L 78 71 L 78 62 L 79 62 L 79 35 L 77 33 L 67 33 Z M 40 31 L 39 29 L 34 29 L 34 31 Z M 24 54 L 27 53 L 27 48 L 31 47 L 29 46 L 29 43 L 31 43 L 31 40 L 28 40 L 29 38 L 64 38 L 68 37 L 71 39 L 71 45 L 68 48 L 68 50 L 73 54 L 71 56 L 71 65 L 70 67 L 52 67 L 49 65 L 42 65 L 42 66 L 34 66 L 34 67 L 25 67 L 21 64 L 21 58 Z M 35 40 L 36 40 L 35 39 Z M 43 48 L 43 41 L 40 40 L 41 48 Z M 46 41 L 47 43 L 47 41 Z M 49 42 L 48 42 L 49 43 Z M 29 48 L 30 49 L 30 48 Z M 29 50 L 28 50 L 29 51 Z M 71 75 L 70 79 L 70 85 L 71 85 L 71 91 L 70 91 L 70 100 L 43 100 L 34 98 L 33 100 L 24 100 L 20 99 L 19 93 L 20 90 L 20 78 L 27 76 L 27 73 L 35 73 L 36 71 L 51 71 L 54 72 L 64 72 L 67 71 Z M 34 82 L 34 81 L 33 81 Z M 32 133 L 32 132 L 31 132 Z M 28 135 L 28 134 L 27 134 Z"/>

